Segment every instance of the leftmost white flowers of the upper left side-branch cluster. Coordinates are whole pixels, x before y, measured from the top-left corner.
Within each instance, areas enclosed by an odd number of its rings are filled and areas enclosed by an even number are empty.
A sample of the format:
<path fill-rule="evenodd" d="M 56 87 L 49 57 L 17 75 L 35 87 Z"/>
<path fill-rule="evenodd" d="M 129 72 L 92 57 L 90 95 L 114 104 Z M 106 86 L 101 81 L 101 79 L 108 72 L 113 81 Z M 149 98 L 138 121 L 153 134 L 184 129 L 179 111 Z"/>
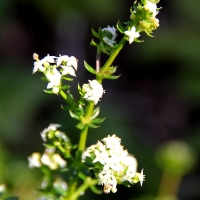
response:
<path fill-rule="evenodd" d="M 38 70 L 44 72 L 46 68 L 43 66 L 45 63 L 55 63 L 55 56 L 45 56 L 42 60 L 34 62 L 33 74 Z"/>

